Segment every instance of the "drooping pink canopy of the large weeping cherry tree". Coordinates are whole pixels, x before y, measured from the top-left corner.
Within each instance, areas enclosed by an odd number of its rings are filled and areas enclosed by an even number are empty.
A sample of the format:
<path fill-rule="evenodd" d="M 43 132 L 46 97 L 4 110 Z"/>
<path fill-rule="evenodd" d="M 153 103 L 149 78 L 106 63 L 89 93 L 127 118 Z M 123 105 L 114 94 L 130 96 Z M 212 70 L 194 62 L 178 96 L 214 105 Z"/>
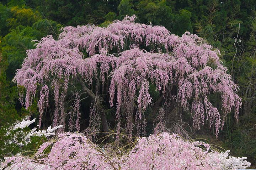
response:
<path fill-rule="evenodd" d="M 238 86 L 226 73 L 218 49 L 195 34 L 186 32 L 178 37 L 162 26 L 135 23 L 135 18 L 127 16 L 106 28 L 64 27 L 58 40 L 49 35 L 38 41 L 36 49 L 27 50 L 27 58 L 14 81 L 26 88 L 26 108 L 31 106 L 36 91 L 40 91 L 39 123 L 52 92 L 54 126 L 65 125 L 68 112 L 69 129 L 79 130 L 80 91 L 72 91 L 75 102 L 71 111 L 64 104 L 69 87 L 76 83 L 94 100 L 94 113 L 100 112 L 104 130 L 107 130 L 104 109 L 97 104 L 101 103 L 99 95 L 103 91 L 99 86 L 107 87 L 110 107 L 116 107 L 117 129 L 121 126 L 121 115 L 126 115 L 129 133 L 133 113 L 139 131 L 143 113 L 152 104 L 150 85 L 156 87 L 166 103 L 175 101 L 190 111 L 195 129 L 208 120 L 218 135 L 232 108 L 238 119 L 241 107 L 241 98 L 236 94 Z M 209 101 L 210 94 L 220 95 L 220 109 Z"/>

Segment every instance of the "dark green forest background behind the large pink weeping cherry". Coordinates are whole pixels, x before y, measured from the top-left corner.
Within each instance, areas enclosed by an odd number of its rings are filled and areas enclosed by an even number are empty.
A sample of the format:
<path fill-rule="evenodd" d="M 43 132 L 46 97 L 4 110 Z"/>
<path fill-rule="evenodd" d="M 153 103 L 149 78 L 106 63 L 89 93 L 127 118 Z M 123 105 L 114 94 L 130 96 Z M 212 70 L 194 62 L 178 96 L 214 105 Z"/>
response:
<path fill-rule="evenodd" d="M 239 85 L 242 108 L 239 123 L 228 115 L 218 138 L 207 126 L 193 131 L 192 138 L 230 149 L 235 157 L 245 156 L 256 164 L 256 0 L 2 0 L 0 2 L 0 148 L 4 145 L 4 126 L 25 115 L 38 120 L 35 98 L 24 109 L 18 101 L 18 88 L 11 81 L 21 67 L 26 50 L 46 35 L 57 39 L 60 28 L 92 23 L 106 27 L 115 19 L 135 14 L 136 22 L 161 25 L 172 34 L 186 31 L 206 39 L 221 52 L 221 60 L 233 81 Z M 219 100 L 213 96 L 212 100 Z M 88 104 L 87 104 L 88 105 Z M 90 107 L 90 105 L 89 105 Z M 86 109 L 84 109 L 86 110 Z M 87 112 L 81 130 L 88 126 Z M 87 114 L 87 115 L 86 115 Z M 49 114 L 42 119 L 48 127 Z M 108 119 L 114 120 L 112 114 Z M 148 126 L 153 118 L 147 115 Z M 183 118 L 191 123 L 189 118 Z M 34 124 L 36 126 L 38 122 Z M 148 129 L 150 129 L 148 127 Z M 1 157 L 5 153 L 1 153 Z"/>

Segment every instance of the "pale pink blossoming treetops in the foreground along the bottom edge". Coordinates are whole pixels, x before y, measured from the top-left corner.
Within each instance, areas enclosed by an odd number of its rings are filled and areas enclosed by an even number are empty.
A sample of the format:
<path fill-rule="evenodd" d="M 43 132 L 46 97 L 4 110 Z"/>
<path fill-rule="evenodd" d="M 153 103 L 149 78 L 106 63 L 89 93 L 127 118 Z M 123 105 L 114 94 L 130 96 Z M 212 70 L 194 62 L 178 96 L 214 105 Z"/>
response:
<path fill-rule="evenodd" d="M 204 142 L 184 141 L 175 134 L 160 133 L 139 138 L 129 152 L 111 154 L 84 135 L 65 132 L 58 134 L 57 139 L 43 143 L 32 157 L 5 158 L 0 169 L 236 170 L 251 165 L 246 157 L 230 157 L 228 152 L 219 153 Z"/>

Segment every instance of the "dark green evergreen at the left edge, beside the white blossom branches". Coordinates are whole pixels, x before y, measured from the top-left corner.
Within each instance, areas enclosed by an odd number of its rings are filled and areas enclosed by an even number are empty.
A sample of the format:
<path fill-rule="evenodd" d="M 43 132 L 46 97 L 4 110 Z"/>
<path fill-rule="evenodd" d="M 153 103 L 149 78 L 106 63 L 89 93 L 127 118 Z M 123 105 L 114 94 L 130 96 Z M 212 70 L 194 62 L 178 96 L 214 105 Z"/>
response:
<path fill-rule="evenodd" d="M 0 41 L 1 44 L 1 41 Z M 27 114 L 25 112 L 18 112 L 15 107 L 17 102 L 17 87 L 11 86 L 10 82 L 6 80 L 6 69 L 8 67 L 7 57 L 3 56 L 0 48 L 0 162 L 4 156 L 17 154 L 20 149 L 11 141 L 14 135 L 19 130 L 15 130 L 10 135 L 6 135 L 9 129 L 17 120 Z M 24 131 L 30 130 L 29 128 Z M 17 134 L 17 138 L 20 136 Z"/>

